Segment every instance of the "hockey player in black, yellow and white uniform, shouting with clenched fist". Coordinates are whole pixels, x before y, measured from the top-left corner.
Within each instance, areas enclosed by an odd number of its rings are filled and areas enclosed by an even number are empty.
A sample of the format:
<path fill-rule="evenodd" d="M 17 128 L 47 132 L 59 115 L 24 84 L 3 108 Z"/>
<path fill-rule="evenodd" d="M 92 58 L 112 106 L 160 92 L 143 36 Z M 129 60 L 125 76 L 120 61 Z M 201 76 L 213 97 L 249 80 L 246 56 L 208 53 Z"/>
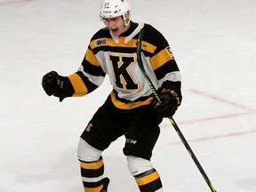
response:
<path fill-rule="evenodd" d="M 131 20 L 127 0 L 103 0 L 100 19 L 106 28 L 94 36 L 76 73 L 60 76 L 51 71 L 43 77 L 44 91 L 60 98 L 84 96 L 108 75 L 113 91 L 92 116 L 77 148 L 85 192 L 107 191 L 101 153 L 111 142 L 125 136 L 128 169 L 141 192 L 163 191 L 160 176 L 150 163 L 163 117 L 180 106 L 180 71 L 164 36 L 144 23 Z M 154 96 L 137 64 L 136 44 L 144 28 L 141 57 L 162 103 Z M 164 158 L 164 156 L 163 156 Z M 121 184 L 122 185 L 122 184 Z"/>

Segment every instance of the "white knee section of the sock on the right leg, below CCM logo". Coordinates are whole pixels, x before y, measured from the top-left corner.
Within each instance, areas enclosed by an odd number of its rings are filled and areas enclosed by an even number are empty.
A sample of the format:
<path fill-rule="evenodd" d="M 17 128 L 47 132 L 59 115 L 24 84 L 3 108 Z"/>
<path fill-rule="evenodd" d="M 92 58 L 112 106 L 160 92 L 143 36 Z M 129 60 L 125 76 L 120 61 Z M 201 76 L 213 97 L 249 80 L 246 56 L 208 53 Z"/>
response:
<path fill-rule="evenodd" d="M 151 162 L 137 156 L 127 156 L 128 169 L 133 176 L 148 172 L 153 168 Z"/>

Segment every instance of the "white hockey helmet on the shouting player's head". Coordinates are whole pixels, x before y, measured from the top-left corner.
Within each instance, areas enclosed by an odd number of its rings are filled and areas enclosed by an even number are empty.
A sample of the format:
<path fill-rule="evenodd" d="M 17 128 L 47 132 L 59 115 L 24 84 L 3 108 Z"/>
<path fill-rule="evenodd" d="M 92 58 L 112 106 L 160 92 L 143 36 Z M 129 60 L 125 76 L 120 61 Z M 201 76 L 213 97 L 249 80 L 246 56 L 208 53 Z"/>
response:
<path fill-rule="evenodd" d="M 128 0 L 103 0 L 100 8 L 100 18 L 123 16 L 124 20 L 130 20 L 130 11 Z"/>

